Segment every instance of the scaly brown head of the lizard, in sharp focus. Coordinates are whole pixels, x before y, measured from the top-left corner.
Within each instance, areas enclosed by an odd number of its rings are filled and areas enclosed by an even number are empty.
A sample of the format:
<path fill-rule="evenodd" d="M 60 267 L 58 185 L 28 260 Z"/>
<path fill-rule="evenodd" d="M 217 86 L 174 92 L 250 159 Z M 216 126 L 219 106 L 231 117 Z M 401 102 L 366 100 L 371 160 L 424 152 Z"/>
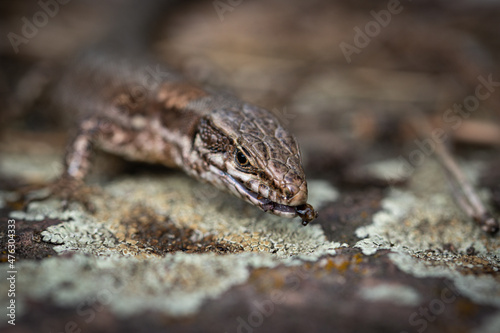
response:
<path fill-rule="evenodd" d="M 208 182 L 304 225 L 316 217 L 297 141 L 269 111 L 248 104 L 213 110 L 200 120 L 194 147 Z"/>

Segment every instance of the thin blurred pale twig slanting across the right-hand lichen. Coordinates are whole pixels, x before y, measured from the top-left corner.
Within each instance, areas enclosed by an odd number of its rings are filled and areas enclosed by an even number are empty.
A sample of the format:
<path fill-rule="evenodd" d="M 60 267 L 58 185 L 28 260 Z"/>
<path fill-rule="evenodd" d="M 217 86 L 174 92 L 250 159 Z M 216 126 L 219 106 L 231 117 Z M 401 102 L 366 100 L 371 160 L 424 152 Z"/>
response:
<path fill-rule="evenodd" d="M 412 127 L 420 137 L 432 140 L 432 129 L 425 117 L 417 112 L 411 120 Z M 441 140 L 433 140 L 437 160 L 445 169 L 452 184 L 452 194 L 462 210 L 472 218 L 482 230 L 495 234 L 499 229 L 498 220 L 486 209 L 476 190 L 464 175 L 457 162 Z"/>

